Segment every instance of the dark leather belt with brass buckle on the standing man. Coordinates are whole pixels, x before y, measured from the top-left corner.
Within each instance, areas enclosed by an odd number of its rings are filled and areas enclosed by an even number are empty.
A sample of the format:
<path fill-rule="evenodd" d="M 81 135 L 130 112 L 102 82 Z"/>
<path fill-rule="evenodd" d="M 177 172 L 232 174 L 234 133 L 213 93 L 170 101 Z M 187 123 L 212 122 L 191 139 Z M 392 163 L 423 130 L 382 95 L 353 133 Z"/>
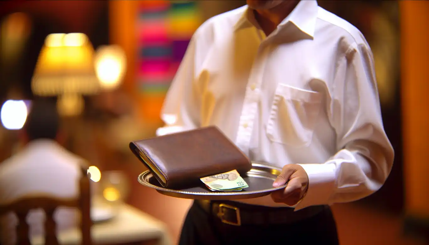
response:
<path fill-rule="evenodd" d="M 222 223 L 235 226 L 290 224 L 311 218 L 328 208 L 328 206 L 310 206 L 293 211 L 294 209 L 289 207 L 256 206 L 233 201 L 195 200 L 195 203 Z"/>

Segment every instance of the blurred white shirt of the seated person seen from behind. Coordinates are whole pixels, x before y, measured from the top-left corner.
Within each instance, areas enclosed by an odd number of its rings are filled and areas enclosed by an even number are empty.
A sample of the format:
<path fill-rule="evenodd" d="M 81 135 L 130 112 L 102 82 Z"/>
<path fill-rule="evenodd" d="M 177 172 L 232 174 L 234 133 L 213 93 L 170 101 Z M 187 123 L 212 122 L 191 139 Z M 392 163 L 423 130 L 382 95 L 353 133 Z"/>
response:
<path fill-rule="evenodd" d="M 34 140 L 21 151 L 0 163 L 0 204 L 11 203 L 31 194 L 47 194 L 58 198 L 79 195 L 79 179 L 84 161 L 48 139 Z M 57 231 L 75 227 L 79 216 L 70 208 L 59 208 L 54 214 Z M 44 234 L 45 212 L 31 211 L 27 215 L 30 236 Z M 16 241 L 18 218 L 9 213 L 0 217 L 0 243 Z"/>

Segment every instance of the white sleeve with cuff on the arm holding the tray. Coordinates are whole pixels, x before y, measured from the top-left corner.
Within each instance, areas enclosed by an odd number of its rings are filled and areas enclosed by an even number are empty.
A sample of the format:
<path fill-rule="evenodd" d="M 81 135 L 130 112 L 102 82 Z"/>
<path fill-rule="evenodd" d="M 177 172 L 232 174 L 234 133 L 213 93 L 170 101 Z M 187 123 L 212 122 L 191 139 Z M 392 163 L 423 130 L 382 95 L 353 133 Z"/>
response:
<path fill-rule="evenodd" d="M 394 152 L 384 132 L 369 47 L 350 45 L 335 74 L 327 111 L 338 152 L 325 163 L 300 164 L 309 183 L 295 210 L 367 197 L 381 188 L 392 169 Z"/>

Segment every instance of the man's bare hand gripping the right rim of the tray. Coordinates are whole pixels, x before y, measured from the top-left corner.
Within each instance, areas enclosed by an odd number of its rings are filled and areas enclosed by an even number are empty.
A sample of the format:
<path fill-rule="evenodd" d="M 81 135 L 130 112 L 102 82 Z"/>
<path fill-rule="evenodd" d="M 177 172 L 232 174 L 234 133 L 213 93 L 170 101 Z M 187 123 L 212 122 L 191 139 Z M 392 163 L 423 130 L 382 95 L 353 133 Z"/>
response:
<path fill-rule="evenodd" d="M 283 167 L 281 174 L 272 184 L 273 187 L 284 185 L 282 190 L 274 191 L 271 198 L 276 203 L 286 203 L 293 206 L 301 200 L 308 188 L 308 176 L 302 166 L 297 164 L 288 164 Z"/>

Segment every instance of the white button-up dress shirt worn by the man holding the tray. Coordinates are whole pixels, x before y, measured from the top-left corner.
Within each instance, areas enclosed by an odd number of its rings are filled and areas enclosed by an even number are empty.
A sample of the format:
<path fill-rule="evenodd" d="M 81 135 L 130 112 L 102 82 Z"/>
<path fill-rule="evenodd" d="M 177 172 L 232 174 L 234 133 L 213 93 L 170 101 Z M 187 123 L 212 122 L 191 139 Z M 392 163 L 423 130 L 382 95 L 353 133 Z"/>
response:
<path fill-rule="evenodd" d="M 248 6 L 205 21 L 161 117 L 157 135 L 216 125 L 251 160 L 300 164 L 309 185 L 295 210 L 366 197 L 393 164 L 371 49 L 313 0 L 300 1 L 269 36 Z M 269 196 L 242 202 L 285 206 Z"/>

